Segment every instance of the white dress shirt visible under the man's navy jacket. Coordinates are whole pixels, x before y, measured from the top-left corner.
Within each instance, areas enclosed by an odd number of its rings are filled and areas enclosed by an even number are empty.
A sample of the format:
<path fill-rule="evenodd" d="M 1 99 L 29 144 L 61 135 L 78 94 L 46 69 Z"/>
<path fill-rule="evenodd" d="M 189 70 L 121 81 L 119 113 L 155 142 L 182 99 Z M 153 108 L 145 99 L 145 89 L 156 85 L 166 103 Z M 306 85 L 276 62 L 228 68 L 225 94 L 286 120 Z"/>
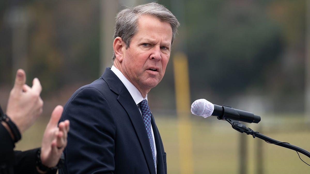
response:
<path fill-rule="evenodd" d="M 142 116 L 142 112 L 141 112 L 138 104 L 140 102 L 142 102 L 142 100 L 148 100 L 148 94 L 146 94 L 145 98 L 143 98 L 141 93 L 139 92 L 139 90 L 123 75 L 123 73 L 120 70 L 118 70 L 114 65 L 111 67 L 111 70 L 125 85 L 125 87 L 129 91 L 131 97 L 134 99 L 137 107 L 139 108 L 139 111 L 140 111 L 141 116 Z M 154 142 L 154 152 L 155 152 L 155 160 L 156 160 L 155 169 L 156 169 L 157 168 L 156 167 L 157 166 L 157 150 L 156 150 L 156 144 L 155 144 L 155 138 L 154 138 L 154 132 L 153 132 L 152 125 L 151 125 L 151 130 L 152 130 L 152 137 L 153 137 L 153 142 Z M 157 170 L 156 170 L 156 173 L 157 173 Z"/>

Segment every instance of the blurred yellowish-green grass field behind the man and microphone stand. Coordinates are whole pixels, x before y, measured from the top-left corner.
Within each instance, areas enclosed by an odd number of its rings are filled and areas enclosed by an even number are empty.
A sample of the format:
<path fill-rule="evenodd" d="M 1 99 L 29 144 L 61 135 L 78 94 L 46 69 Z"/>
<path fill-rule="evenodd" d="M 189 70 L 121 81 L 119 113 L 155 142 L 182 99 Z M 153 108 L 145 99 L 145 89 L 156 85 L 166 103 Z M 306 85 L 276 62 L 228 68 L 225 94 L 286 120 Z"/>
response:
<path fill-rule="evenodd" d="M 310 151 L 310 128 L 303 123 L 302 117 L 266 118 L 263 117 L 259 124 L 246 124 L 246 126 L 273 139 L 289 142 Z M 15 149 L 27 150 L 40 146 L 47 121 L 46 118 L 39 118 L 38 122 L 23 134 L 22 141 L 16 145 Z M 179 174 L 178 120 L 176 116 L 158 116 L 155 117 L 155 121 L 167 153 L 168 173 Z M 193 145 L 193 173 L 195 174 L 240 173 L 241 137 L 245 139 L 247 145 L 246 173 L 257 173 L 258 161 L 256 157 L 258 152 L 256 149 L 259 144 L 263 149 L 262 173 L 310 173 L 310 166 L 303 163 L 295 151 L 268 144 L 245 133 L 239 133 L 232 129 L 226 121 L 217 120 L 215 117 L 204 119 L 193 116 L 190 124 Z M 262 126 L 262 128 L 258 126 Z M 310 164 L 310 159 L 307 156 L 303 154 L 300 156 Z"/>

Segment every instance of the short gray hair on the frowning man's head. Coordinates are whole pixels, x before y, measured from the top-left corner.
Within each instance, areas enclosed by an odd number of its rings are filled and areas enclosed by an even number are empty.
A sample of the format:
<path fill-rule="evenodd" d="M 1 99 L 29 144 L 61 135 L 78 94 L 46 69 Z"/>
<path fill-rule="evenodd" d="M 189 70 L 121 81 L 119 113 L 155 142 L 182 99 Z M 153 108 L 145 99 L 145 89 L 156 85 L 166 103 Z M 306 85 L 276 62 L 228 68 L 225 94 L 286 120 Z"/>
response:
<path fill-rule="evenodd" d="M 118 12 L 116 15 L 114 39 L 116 37 L 121 37 L 126 43 L 126 49 L 128 49 L 132 37 L 138 32 L 138 19 L 141 15 L 150 15 L 159 19 L 161 22 L 168 22 L 172 28 L 172 46 L 180 23 L 165 6 L 156 2 L 139 5 L 136 7 L 127 7 L 126 9 Z M 115 53 L 113 52 L 112 60 L 114 61 L 114 59 Z"/>

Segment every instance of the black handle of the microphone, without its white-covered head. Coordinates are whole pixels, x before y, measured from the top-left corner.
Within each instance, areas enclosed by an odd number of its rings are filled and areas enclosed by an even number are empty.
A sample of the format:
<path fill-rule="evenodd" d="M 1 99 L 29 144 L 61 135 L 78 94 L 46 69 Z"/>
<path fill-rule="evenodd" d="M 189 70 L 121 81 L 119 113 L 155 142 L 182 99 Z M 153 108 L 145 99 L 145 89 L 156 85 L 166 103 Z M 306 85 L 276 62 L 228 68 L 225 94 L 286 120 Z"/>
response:
<path fill-rule="evenodd" d="M 254 115 L 251 112 L 242 111 L 238 109 L 234 109 L 230 106 L 219 106 L 214 105 L 214 110 L 212 113 L 213 116 L 217 116 L 219 120 L 224 119 L 232 119 L 239 120 L 246 123 L 259 123 L 260 116 Z"/>

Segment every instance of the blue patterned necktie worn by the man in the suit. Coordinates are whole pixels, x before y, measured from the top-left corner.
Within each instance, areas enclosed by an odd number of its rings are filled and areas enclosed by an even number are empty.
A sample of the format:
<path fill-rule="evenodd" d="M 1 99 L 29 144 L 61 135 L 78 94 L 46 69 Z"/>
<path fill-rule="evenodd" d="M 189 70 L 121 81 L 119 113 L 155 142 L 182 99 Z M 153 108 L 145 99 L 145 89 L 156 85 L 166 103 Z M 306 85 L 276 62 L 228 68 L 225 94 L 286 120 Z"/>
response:
<path fill-rule="evenodd" d="M 151 128 L 151 111 L 150 111 L 150 107 L 148 106 L 148 101 L 142 100 L 142 102 L 139 103 L 139 107 L 140 107 L 141 112 L 142 112 L 146 132 L 148 133 L 148 140 L 150 141 L 150 145 L 151 145 L 151 149 L 152 149 L 154 165 L 156 166 L 154 142 L 153 142 L 152 128 Z"/>

